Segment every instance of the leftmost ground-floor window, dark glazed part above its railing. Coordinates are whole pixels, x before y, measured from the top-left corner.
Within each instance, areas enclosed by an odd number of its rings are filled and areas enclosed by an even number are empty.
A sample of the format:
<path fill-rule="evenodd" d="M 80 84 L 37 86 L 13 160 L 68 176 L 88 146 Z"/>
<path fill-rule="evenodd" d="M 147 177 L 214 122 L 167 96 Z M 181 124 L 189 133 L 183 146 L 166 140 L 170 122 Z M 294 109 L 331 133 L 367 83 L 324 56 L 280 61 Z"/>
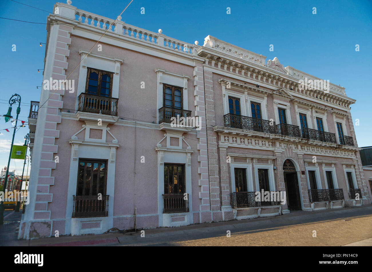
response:
<path fill-rule="evenodd" d="M 79 159 L 76 195 L 106 195 L 107 161 Z"/>

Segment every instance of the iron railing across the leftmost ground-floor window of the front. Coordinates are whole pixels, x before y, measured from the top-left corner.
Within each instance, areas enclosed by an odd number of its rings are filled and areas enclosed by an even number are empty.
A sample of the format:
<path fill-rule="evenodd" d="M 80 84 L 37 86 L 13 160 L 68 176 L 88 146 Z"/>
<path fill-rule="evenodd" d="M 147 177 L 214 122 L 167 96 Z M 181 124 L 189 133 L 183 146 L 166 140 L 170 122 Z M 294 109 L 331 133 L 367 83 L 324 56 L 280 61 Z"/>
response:
<path fill-rule="evenodd" d="M 72 218 L 109 216 L 109 195 L 74 195 Z"/>

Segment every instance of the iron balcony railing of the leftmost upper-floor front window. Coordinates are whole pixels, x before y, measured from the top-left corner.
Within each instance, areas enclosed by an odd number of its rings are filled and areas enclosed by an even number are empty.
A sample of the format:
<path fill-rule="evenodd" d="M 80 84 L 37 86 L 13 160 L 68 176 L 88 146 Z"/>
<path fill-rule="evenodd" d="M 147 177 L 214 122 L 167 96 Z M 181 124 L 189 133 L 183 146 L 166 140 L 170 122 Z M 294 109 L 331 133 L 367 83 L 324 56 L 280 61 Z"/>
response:
<path fill-rule="evenodd" d="M 118 116 L 118 98 L 81 93 L 78 111 Z"/>

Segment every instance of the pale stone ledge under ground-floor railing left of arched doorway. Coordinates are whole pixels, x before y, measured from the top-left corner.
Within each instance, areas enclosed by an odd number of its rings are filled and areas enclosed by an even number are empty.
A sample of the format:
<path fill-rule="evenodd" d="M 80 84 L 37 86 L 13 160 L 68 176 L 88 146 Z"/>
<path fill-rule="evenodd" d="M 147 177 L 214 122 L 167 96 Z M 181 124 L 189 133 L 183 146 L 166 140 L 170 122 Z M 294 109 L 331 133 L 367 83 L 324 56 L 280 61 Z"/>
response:
<path fill-rule="evenodd" d="M 248 207 L 232 209 L 234 219 L 242 220 L 257 217 L 277 216 L 282 214 L 282 205 L 267 207 Z M 289 211 L 288 211 L 289 212 Z"/>

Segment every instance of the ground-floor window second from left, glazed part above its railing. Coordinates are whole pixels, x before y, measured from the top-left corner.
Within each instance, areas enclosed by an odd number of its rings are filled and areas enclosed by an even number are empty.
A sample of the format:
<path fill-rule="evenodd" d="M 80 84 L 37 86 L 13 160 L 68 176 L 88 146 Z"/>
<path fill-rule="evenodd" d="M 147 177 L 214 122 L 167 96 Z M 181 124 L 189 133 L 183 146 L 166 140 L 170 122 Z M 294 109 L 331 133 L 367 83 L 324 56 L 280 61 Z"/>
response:
<path fill-rule="evenodd" d="M 185 184 L 185 165 L 165 163 L 164 194 L 184 194 Z"/>

